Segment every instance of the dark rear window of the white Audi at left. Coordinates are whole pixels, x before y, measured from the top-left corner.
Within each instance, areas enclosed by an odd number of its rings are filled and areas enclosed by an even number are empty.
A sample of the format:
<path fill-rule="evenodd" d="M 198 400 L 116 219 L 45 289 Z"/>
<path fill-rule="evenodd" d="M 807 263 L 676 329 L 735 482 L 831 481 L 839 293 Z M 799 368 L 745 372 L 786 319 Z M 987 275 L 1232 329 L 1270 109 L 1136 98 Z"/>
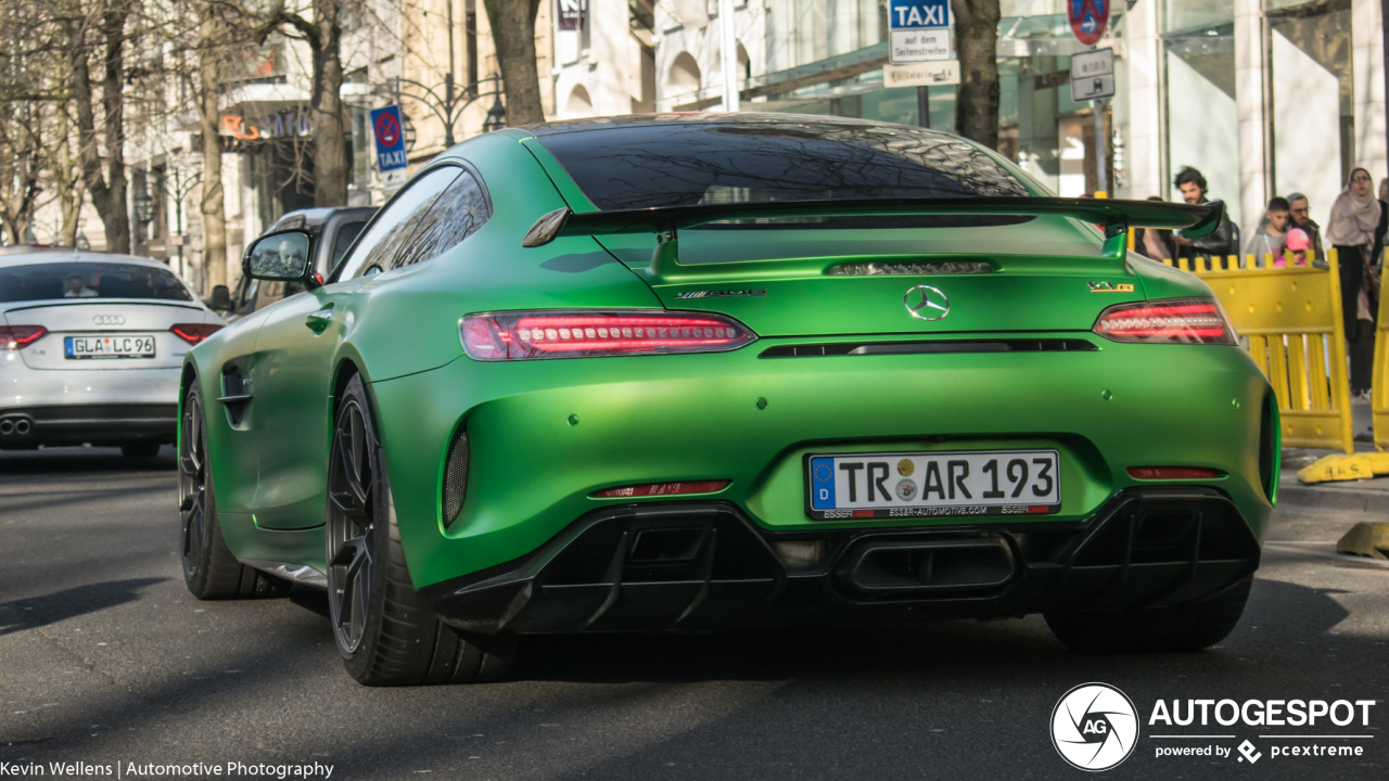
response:
<path fill-rule="evenodd" d="M 0 267 L 0 302 L 161 299 L 193 296 L 168 270 L 125 263 L 38 263 Z"/>

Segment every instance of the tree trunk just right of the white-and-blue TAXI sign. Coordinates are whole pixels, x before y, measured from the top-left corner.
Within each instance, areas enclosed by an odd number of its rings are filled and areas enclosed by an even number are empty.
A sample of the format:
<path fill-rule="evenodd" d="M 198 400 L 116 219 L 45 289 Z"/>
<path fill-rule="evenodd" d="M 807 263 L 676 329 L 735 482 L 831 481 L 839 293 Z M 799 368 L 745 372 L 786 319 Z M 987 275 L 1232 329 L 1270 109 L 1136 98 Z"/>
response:
<path fill-rule="evenodd" d="M 956 132 L 999 147 L 999 0 L 950 0 L 960 53 Z"/>

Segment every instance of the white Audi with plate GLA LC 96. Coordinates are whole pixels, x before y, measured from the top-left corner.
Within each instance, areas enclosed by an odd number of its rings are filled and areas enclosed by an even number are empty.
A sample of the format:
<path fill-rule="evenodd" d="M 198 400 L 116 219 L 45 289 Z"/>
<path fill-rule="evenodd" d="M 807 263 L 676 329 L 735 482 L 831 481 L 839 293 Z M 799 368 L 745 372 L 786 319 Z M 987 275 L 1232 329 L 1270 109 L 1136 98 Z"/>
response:
<path fill-rule="evenodd" d="M 0 254 L 0 449 L 174 442 L 183 354 L 224 325 L 164 264 Z"/>

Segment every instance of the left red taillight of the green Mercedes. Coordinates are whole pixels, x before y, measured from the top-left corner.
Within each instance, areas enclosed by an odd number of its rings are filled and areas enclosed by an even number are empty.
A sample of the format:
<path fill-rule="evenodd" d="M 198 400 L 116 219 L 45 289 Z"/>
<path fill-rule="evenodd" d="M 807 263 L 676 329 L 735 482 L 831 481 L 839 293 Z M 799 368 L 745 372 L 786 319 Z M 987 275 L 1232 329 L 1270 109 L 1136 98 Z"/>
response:
<path fill-rule="evenodd" d="M 469 314 L 458 338 L 479 361 L 735 350 L 757 339 L 718 314 L 668 311 L 493 311 Z"/>

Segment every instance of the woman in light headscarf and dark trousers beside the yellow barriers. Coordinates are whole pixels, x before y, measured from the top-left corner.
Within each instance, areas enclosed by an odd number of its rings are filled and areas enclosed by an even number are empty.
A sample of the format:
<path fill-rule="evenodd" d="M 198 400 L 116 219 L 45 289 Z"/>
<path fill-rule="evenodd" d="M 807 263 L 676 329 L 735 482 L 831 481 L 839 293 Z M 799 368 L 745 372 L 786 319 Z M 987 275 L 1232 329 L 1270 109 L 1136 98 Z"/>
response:
<path fill-rule="evenodd" d="M 1375 229 L 1379 228 L 1379 200 L 1370 193 L 1372 185 L 1370 171 L 1351 171 L 1326 224 L 1326 240 L 1336 247 L 1340 261 L 1340 313 L 1350 342 L 1351 393 L 1370 389 L 1375 356 L 1374 314 L 1368 303 L 1361 309 L 1361 295 L 1368 293 L 1365 268 L 1374 265 Z"/>

